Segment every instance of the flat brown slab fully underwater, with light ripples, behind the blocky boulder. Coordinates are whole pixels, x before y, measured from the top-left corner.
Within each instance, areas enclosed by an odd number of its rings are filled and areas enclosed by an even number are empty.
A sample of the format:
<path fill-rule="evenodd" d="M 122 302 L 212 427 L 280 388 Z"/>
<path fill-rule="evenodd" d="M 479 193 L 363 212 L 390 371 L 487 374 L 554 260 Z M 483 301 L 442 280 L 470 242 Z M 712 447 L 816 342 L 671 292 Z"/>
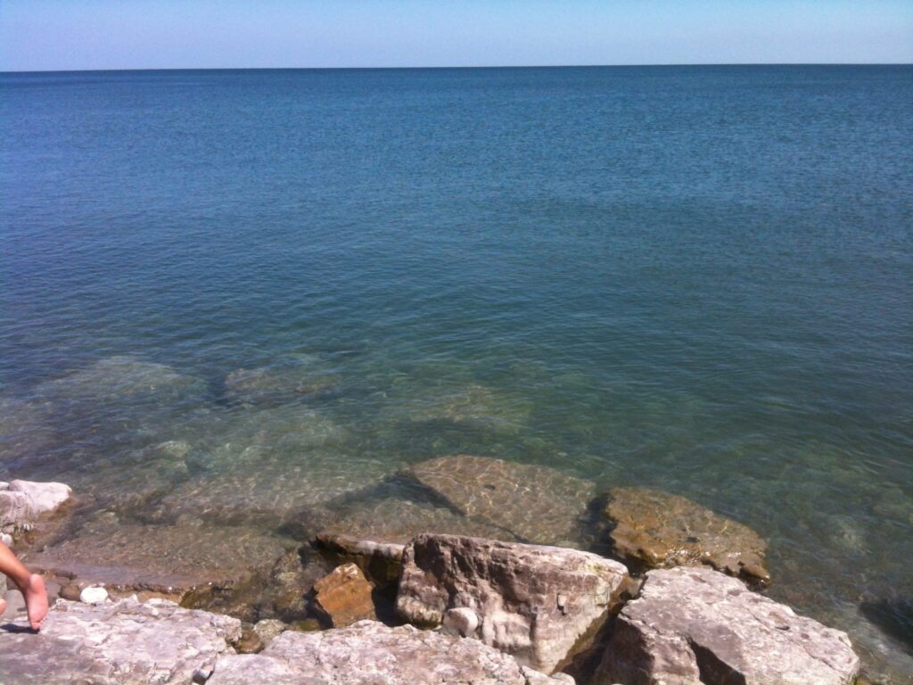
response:
<path fill-rule="evenodd" d="M 487 457 L 440 457 L 404 471 L 456 511 L 525 543 L 579 546 L 593 483 L 555 469 Z"/>

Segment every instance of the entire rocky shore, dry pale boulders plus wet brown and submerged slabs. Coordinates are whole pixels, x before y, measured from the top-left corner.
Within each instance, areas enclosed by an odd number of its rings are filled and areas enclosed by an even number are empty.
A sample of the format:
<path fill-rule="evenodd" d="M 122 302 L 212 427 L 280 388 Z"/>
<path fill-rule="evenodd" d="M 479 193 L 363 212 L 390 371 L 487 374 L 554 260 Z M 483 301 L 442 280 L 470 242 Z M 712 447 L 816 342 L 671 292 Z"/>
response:
<path fill-rule="evenodd" d="M 761 594 L 761 538 L 695 502 L 471 456 L 398 478 L 456 515 L 362 519 L 371 535 L 319 514 L 303 537 L 200 523 L 191 544 L 180 522 L 104 513 L 74 533 L 67 486 L 0 483 L 0 530 L 56 599 L 33 634 L 7 594 L 0 682 L 856 680 L 845 633 Z"/>

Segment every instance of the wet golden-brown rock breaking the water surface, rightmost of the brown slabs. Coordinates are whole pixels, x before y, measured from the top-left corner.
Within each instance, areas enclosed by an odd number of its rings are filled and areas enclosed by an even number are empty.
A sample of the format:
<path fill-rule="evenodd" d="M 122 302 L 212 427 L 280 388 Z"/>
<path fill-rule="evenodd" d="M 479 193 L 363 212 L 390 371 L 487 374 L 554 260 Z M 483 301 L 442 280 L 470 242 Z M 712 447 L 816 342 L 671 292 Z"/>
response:
<path fill-rule="evenodd" d="M 759 585 L 770 582 L 767 543 L 748 526 L 677 495 L 615 488 L 605 515 L 614 552 L 646 568 L 705 564 Z"/>

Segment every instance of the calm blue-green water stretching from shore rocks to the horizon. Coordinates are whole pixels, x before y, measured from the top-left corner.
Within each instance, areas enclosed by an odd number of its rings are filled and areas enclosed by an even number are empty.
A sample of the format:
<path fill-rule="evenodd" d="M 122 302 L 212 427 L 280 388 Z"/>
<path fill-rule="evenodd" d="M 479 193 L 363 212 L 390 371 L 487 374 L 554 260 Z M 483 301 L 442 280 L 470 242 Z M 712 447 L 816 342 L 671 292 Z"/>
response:
<path fill-rule="evenodd" d="M 913 68 L 5 74 L 0 121 L 0 478 L 654 487 L 910 681 Z"/>

